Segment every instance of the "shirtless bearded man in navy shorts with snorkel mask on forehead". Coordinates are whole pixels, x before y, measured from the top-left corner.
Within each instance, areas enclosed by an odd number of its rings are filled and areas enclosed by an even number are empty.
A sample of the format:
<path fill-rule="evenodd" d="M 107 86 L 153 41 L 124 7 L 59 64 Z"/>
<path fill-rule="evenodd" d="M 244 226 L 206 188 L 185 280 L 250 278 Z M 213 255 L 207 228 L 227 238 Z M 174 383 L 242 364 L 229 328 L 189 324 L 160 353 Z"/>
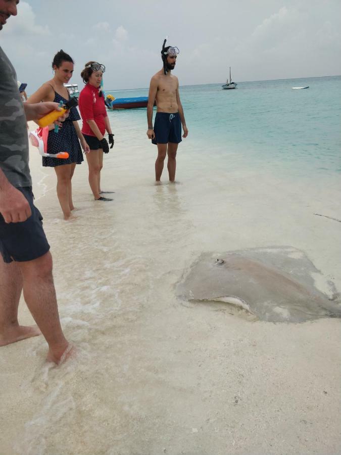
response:
<path fill-rule="evenodd" d="M 147 120 L 149 139 L 158 146 L 158 157 L 155 162 L 155 179 L 160 184 L 163 163 L 168 154 L 169 181 L 175 181 L 176 151 L 181 139 L 181 123 L 183 138 L 188 135 L 188 129 L 183 115 L 182 105 L 179 96 L 179 81 L 171 74 L 175 67 L 176 57 L 179 54 L 178 48 L 165 47 L 164 40 L 161 56 L 163 69 L 158 71 L 151 79 L 147 106 Z M 153 128 L 153 106 L 157 104 L 157 113 Z"/>

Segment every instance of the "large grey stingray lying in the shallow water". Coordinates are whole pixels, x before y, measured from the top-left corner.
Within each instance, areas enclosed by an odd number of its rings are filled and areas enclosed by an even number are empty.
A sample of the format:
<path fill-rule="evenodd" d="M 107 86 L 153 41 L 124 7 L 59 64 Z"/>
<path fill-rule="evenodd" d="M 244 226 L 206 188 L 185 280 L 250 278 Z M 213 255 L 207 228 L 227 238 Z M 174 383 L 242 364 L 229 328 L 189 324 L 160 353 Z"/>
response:
<path fill-rule="evenodd" d="M 286 246 L 203 253 L 184 274 L 177 294 L 188 301 L 234 305 L 261 321 L 341 317 L 335 285 L 303 251 Z"/>

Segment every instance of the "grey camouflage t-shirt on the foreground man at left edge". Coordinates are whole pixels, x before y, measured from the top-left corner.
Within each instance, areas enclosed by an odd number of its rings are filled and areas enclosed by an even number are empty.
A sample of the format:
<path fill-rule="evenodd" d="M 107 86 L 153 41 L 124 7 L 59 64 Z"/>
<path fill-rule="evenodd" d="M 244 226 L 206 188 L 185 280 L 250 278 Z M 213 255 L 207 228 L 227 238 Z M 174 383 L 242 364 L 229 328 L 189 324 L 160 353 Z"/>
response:
<path fill-rule="evenodd" d="M 13 65 L 0 47 L 0 169 L 10 183 L 30 187 L 28 135 Z"/>

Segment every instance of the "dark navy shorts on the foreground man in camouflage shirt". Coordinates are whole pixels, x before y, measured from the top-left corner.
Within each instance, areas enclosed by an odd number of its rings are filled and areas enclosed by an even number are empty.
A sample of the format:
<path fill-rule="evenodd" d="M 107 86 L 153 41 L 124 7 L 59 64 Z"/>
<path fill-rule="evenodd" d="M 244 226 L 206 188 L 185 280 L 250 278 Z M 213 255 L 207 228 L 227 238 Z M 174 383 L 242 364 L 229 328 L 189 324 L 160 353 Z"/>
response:
<path fill-rule="evenodd" d="M 6 223 L 0 213 L 0 252 L 5 262 L 32 261 L 50 250 L 44 230 L 42 216 L 33 205 L 32 187 L 17 188 L 31 207 L 31 216 L 26 221 Z"/>

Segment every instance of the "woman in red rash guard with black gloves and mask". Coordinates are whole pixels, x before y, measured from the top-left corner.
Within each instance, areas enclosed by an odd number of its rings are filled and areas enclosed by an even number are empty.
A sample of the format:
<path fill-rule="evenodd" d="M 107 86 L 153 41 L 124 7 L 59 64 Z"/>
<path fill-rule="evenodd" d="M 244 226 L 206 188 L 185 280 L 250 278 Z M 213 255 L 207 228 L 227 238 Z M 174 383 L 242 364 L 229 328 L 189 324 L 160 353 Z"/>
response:
<path fill-rule="evenodd" d="M 103 167 L 103 153 L 109 152 L 109 145 L 104 138 L 107 130 L 111 149 L 114 145 L 114 134 L 107 116 L 104 97 L 100 90 L 101 80 L 106 67 L 97 62 L 88 62 L 81 72 L 83 82 L 86 84 L 82 89 L 78 106 L 83 120 L 82 133 L 90 148 L 86 155 L 89 166 L 89 184 L 95 201 L 112 201 L 102 196 L 111 191 L 101 191 L 101 169 Z"/>

